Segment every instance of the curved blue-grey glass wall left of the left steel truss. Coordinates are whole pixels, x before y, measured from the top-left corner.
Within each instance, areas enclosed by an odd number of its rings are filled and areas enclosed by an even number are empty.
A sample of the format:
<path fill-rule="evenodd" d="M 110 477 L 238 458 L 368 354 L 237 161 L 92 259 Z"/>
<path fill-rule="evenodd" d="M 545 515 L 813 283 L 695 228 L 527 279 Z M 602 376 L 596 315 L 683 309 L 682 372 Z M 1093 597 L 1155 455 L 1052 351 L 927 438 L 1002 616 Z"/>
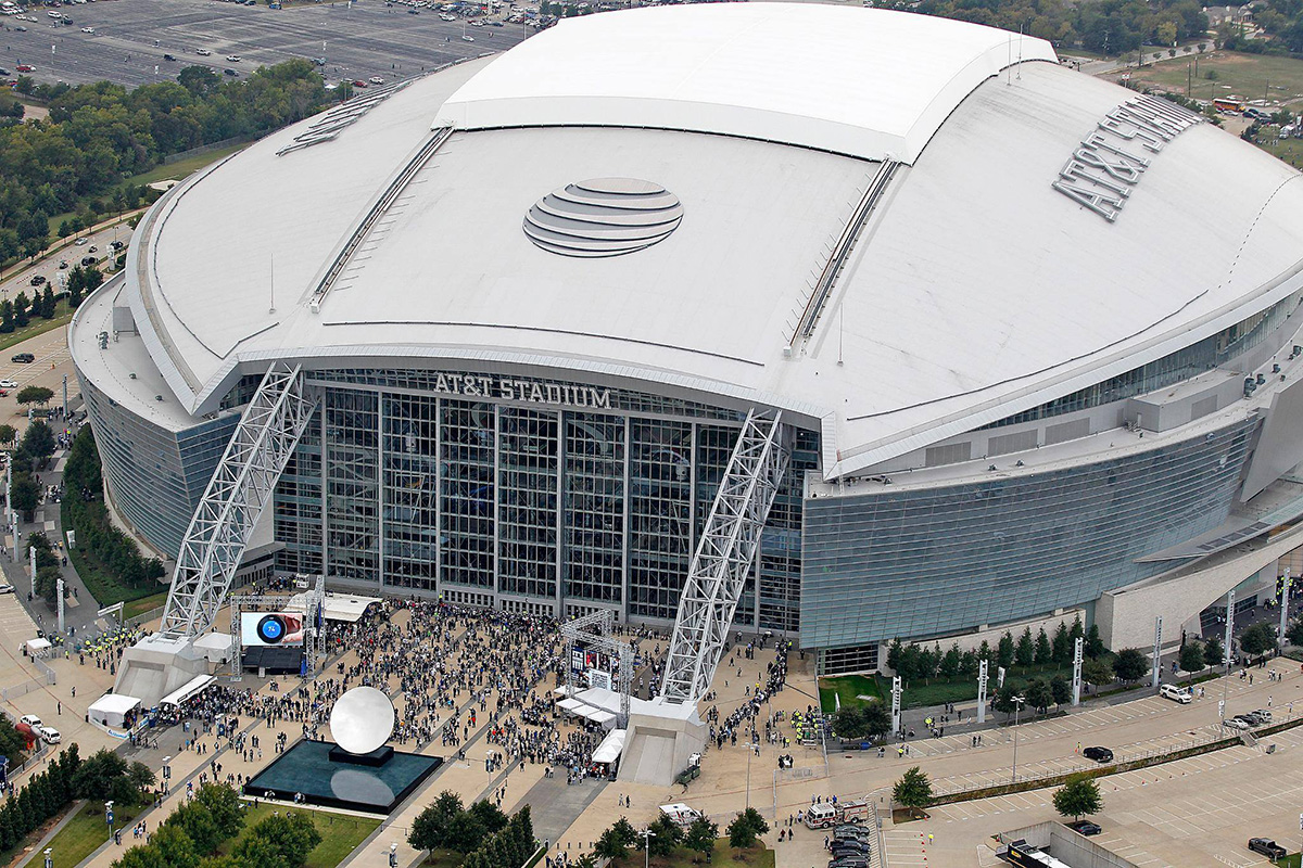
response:
<path fill-rule="evenodd" d="M 125 410 L 85 377 L 81 385 L 113 504 L 137 532 L 176 557 L 240 415 L 175 432 Z"/>

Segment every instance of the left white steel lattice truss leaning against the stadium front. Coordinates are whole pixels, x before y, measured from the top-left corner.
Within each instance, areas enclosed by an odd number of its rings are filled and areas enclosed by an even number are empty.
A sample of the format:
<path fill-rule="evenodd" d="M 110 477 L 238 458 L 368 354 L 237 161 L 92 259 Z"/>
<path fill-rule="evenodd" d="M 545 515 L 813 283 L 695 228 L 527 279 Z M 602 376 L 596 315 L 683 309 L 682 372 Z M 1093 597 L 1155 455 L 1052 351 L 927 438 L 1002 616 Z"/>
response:
<path fill-rule="evenodd" d="M 198 636 L 212 626 L 258 517 L 314 409 L 304 394 L 301 367 L 272 364 L 190 519 L 159 632 Z"/>

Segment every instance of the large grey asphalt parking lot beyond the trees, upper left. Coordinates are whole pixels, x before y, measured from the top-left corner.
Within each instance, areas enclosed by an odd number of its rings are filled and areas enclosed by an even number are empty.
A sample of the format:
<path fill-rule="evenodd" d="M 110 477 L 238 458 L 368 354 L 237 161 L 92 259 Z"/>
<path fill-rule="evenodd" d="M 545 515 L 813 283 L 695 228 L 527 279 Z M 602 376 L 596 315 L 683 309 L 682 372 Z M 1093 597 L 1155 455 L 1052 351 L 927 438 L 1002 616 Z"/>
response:
<path fill-rule="evenodd" d="M 504 51 L 533 33 L 512 23 L 468 27 L 474 42 L 464 42 L 460 20 L 444 22 L 430 10 L 412 16 L 407 7 L 386 7 L 383 0 L 280 10 L 215 0 L 99 0 L 61 10 L 73 20 L 70 26 L 55 26 L 47 9 L 35 5 L 27 13 L 36 23 L 4 18 L 0 66 L 14 72 L 18 64 L 30 64 L 35 66 L 30 74 L 42 82 L 108 79 L 136 86 L 176 78 L 188 65 L 248 75 L 292 57 L 324 56 L 327 81 L 405 78 L 459 57 Z M 27 31 L 16 31 L 17 25 Z M 199 48 L 212 55 L 202 57 L 195 53 Z M 164 53 L 177 60 L 163 60 Z M 227 55 L 241 60 L 227 61 Z"/>

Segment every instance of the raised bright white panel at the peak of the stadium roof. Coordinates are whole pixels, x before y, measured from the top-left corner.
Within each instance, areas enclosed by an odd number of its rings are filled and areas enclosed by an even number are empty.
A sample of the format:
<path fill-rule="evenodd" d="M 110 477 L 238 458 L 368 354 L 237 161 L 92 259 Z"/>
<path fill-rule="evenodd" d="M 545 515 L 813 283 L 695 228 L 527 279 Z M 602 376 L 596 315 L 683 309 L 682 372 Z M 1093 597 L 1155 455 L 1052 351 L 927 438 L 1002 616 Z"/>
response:
<path fill-rule="evenodd" d="M 646 8 L 526 40 L 435 122 L 661 128 L 913 163 L 955 105 L 1018 59 L 1055 57 L 1044 39 L 904 12 Z"/>

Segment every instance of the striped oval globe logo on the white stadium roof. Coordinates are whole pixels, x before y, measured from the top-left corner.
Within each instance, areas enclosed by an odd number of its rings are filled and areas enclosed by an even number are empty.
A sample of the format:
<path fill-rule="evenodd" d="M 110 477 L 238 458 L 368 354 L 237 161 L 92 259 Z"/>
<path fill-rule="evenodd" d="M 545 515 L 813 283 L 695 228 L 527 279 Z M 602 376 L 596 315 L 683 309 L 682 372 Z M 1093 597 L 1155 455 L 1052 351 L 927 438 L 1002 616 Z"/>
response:
<path fill-rule="evenodd" d="M 554 190 L 525 215 L 525 234 L 563 256 L 619 256 L 663 241 L 683 220 L 679 197 L 659 183 L 594 178 Z"/>

